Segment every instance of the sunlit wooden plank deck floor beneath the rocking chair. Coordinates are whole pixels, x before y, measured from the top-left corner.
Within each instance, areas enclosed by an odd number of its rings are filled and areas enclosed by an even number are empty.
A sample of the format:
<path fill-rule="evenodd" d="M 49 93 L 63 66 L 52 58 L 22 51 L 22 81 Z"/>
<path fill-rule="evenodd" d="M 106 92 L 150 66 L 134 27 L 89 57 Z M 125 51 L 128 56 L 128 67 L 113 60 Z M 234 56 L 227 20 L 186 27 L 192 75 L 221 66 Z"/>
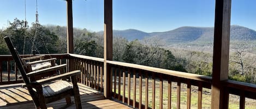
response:
<path fill-rule="evenodd" d="M 131 108 L 126 105 L 121 104 L 120 102 L 104 99 L 103 95 L 100 92 L 95 91 L 94 89 L 79 85 L 80 97 L 83 108 Z M 74 98 L 72 97 L 72 101 Z M 58 100 L 47 104 L 48 108 L 75 108 L 74 102 L 67 106 L 66 100 Z M 31 96 L 29 95 L 27 89 L 22 88 L 20 84 L 16 85 L 7 85 L 0 86 L 0 108 L 1 109 L 27 109 L 35 108 Z"/>

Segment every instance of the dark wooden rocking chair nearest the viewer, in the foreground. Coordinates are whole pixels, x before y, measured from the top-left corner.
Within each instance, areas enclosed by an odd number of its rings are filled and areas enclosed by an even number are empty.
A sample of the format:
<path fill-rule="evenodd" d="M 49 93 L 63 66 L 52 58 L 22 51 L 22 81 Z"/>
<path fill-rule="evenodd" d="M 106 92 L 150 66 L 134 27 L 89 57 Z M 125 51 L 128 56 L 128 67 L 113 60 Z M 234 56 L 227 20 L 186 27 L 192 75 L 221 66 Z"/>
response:
<path fill-rule="evenodd" d="M 76 75 L 80 74 L 80 70 L 74 70 L 72 72 L 51 76 L 50 78 L 35 80 L 34 76 L 63 68 L 64 65 L 27 72 L 27 70 L 25 70 L 27 69 L 26 65 L 24 61 L 22 61 L 19 53 L 17 53 L 16 48 L 14 48 L 13 42 L 11 42 L 9 37 L 4 37 L 4 40 L 7 43 L 10 53 L 13 55 L 13 59 L 20 70 L 23 81 L 26 84 L 23 86 L 27 87 L 28 92 L 34 101 L 35 108 L 46 109 L 47 103 L 62 98 L 66 98 L 67 104 L 71 104 L 71 95 L 74 95 L 76 108 L 82 108 L 79 88 L 76 80 Z M 73 87 L 69 82 L 61 80 L 68 77 L 71 77 Z"/>

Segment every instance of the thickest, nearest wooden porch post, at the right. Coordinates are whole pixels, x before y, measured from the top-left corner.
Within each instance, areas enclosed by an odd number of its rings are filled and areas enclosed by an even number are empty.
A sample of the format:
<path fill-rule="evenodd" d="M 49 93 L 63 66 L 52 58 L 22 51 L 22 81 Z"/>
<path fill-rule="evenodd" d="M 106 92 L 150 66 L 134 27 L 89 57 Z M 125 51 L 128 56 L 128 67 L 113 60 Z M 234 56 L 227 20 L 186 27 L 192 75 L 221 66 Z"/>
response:
<path fill-rule="evenodd" d="M 229 94 L 221 81 L 228 79 L 231 0 L 216 0 L 215 7 L 211 108 L 228 108 Z"/>

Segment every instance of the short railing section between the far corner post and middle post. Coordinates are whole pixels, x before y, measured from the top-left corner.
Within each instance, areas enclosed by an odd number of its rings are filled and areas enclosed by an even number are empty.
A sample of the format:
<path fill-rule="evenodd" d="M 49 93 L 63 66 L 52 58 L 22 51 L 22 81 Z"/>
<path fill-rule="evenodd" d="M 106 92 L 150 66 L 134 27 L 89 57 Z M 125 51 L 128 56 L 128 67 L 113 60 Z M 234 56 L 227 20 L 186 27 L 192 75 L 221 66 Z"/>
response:
<path fill-rule="evenodd" d="M 70 70 L 81 70 L 81 75 L 78 77 L 81 84 L 103 92 L 103 59 L 70 54 L 69 62 Z"/>

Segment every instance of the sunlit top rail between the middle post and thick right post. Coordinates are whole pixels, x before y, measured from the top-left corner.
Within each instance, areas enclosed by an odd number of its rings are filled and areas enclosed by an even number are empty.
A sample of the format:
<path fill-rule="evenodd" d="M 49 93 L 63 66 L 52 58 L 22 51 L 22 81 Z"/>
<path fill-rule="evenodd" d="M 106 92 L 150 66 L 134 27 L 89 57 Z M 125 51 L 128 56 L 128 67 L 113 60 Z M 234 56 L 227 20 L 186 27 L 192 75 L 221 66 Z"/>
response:
<path fill-rule="evenodd" d="M 209 82 L 209 83 L 211 83 L 211 80 L 212 80 L 212 78 L 210 76 L 178 72 L 178 71 L 175 71 L 175 70 L 148 67 L 148 66 L 136 65 L 136 64 L 133 64 L 133 63 L 125 63 L 125 62 L 116 62 L 116 61 L 106 61 L 106 62 L 111 64 L 111 65 L 130 67 L 130 68 L 135 68 L 135 69 L 142 69 L 142 70 L 147 70 L 147 71 L 150 71 L 150 72 L 156 72 L 156 73 L 160 73 L 160 74 L 177 76 L 177 77 L 185 78 L 185 79 L 191 79 L 191 80 L 197 80 L 197 81 L 203 81 L 203 82 Z"/>

